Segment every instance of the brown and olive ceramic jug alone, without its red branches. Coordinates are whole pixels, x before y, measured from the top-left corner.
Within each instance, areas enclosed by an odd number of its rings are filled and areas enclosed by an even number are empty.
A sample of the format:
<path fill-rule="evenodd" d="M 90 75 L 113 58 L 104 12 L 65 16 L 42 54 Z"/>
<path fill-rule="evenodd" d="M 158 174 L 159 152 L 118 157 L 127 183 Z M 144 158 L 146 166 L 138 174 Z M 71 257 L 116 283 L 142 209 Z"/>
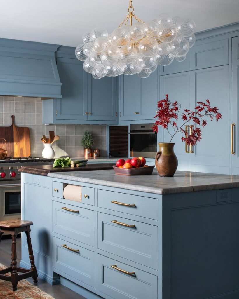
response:
<path fill-rule="evenodd" d="M 155 155 L 155 166 L 160 176 L 174 176 L 177 170 L 177 157 L 174 153 L 175 143 L 159 143 L 159 152 Z"/>

